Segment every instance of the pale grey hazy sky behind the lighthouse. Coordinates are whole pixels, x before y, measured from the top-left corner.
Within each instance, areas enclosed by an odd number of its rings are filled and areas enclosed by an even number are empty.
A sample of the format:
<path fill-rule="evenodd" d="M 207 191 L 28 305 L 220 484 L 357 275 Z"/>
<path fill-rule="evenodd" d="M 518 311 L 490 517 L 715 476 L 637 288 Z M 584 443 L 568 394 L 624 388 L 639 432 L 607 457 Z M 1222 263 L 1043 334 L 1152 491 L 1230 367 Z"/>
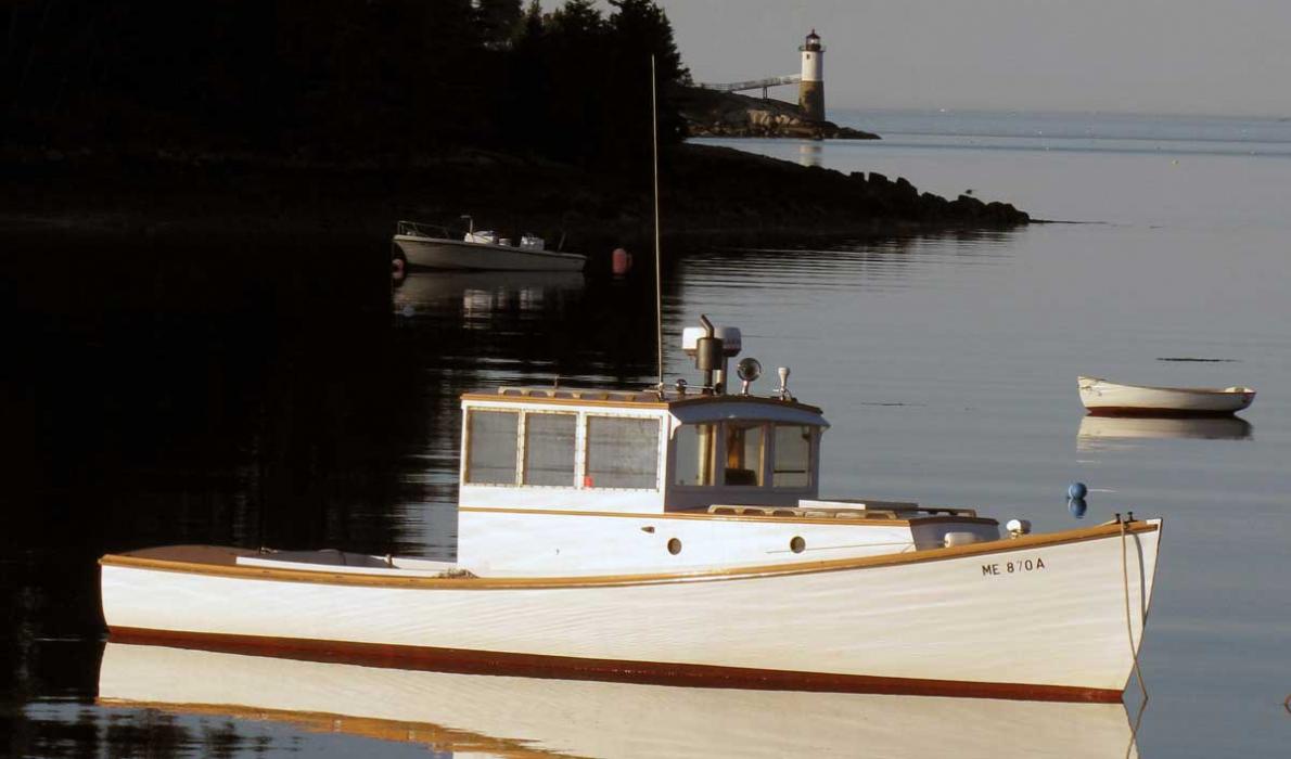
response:
<path fill-rule="evenodd" d="M 696 81 L 797 74 L 815 27 L 829 107 L 1291 116 L 1291 0 L 660 5 Z"/>

